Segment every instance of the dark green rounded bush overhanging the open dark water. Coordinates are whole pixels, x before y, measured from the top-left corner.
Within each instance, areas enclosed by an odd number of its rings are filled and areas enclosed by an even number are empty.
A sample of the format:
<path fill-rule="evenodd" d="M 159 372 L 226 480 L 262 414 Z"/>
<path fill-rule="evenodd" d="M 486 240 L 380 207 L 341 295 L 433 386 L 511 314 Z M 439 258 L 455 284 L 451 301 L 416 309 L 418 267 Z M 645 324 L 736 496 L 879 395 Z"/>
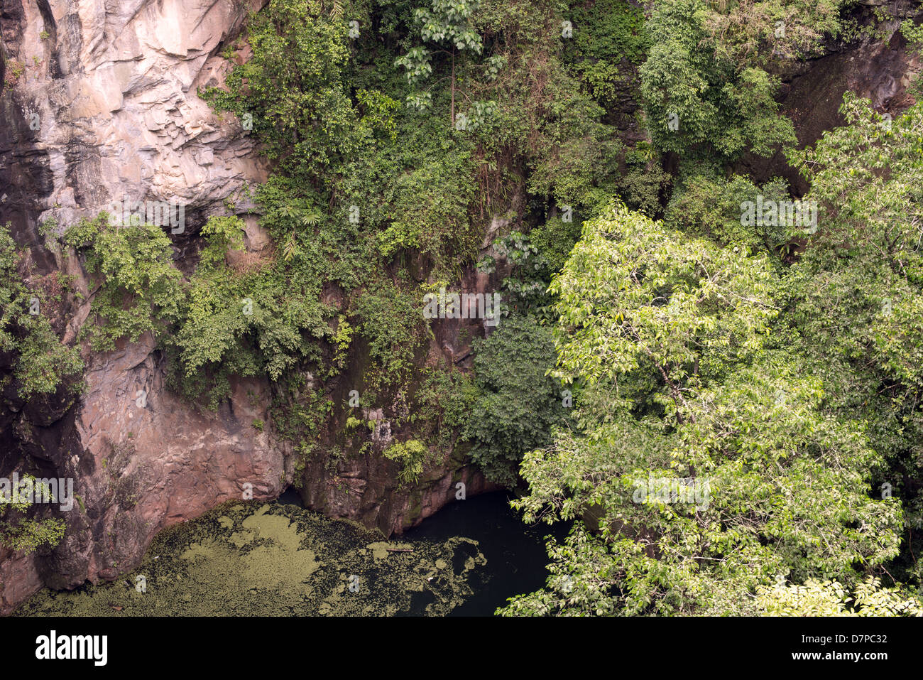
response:
<path fill-rule="evenodd" d="M 462 438 L 488 480 L 514 487 L 522 452 L 549 444 L 551 427 L 564 419 L 559 383 L 545 375 L 554 343 L 532 318 L 509 317 L 473 352 L 477 396 Z"/>

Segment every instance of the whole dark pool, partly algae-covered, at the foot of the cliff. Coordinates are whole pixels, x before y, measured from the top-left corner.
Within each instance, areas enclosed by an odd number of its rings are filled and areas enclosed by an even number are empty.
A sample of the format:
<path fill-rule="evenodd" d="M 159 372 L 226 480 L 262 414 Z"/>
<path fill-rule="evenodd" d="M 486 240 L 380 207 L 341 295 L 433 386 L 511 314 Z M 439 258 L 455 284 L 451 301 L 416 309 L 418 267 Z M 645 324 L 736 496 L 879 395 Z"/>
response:
<path fill-rule="evenodd" d="M 69 592 L 42 589 L 21 615 L 491 616 L 545 585 L 545 537 L 505 492 L 456 501 L 403 536 L 275 503 L 224 504 L 163 531 L 138 568 Z"/>

